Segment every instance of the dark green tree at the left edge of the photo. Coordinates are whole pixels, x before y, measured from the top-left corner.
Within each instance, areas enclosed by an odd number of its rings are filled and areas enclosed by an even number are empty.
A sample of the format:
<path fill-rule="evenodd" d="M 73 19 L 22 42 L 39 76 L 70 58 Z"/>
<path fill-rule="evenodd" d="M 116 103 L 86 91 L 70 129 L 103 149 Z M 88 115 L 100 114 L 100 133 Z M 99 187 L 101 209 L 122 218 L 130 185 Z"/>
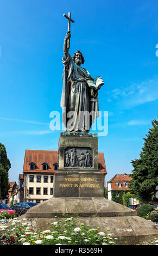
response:
<path fill-rule="evenodd" d="M 7 151 L 2 143 L 0 143 L 0 188 L 1 199 L 5 199 L 8 195 L 9 180 L 8 171 L 11 167 L 10 161 L 7 157 Z"/>

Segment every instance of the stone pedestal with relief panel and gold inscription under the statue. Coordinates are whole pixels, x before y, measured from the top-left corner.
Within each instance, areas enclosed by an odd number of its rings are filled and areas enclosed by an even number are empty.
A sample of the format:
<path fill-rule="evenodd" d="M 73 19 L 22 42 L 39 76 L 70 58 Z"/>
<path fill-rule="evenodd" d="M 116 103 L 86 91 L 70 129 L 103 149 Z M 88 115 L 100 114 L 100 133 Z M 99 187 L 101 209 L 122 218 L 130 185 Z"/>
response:
<path fill-rule="evenodd" d="M 96 133 L 61 132 L 54 197 L 104 197 Z"/>

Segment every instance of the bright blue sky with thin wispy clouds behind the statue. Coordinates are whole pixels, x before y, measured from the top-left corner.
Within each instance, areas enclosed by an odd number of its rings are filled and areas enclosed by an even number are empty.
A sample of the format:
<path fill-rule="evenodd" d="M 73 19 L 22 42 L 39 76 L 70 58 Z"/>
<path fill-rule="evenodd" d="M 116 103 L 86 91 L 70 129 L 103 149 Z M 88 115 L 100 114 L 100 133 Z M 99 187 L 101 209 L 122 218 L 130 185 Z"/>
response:
<path fill-rule="evenodd" d="M 18 182 L 26 149 L 58 150 L 60 131 L 50 131 L 49 114 L 61 113 L 68 11 L 75 21 L 69 52 L 80 50 L 91 76 L 105 82 L 99 110 L 109 112 L 109 130 L 98 144 L 106 181 L 131 173 L 157 115 L 157 1 L 1 0 L 0 7 L 0 141 L 9 181 Z"/>

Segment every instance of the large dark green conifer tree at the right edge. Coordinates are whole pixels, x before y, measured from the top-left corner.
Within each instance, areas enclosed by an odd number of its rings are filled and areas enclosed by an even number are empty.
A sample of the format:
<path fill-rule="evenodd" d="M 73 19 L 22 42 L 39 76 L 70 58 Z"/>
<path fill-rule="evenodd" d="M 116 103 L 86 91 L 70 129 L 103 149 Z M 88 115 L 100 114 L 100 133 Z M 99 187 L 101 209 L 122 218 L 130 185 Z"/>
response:
<path fill-rule="evenodd" d="M 130 174 L 131 189 L 136 198 L 142 202 L 156 201 L 155 188 L 158 184 L 158 121 L 151 121 L 152 128 L 149 129 L 144 139 L 144 147 L 140 153 L 140 159 L 132 160 L 132 174 Z"/>

